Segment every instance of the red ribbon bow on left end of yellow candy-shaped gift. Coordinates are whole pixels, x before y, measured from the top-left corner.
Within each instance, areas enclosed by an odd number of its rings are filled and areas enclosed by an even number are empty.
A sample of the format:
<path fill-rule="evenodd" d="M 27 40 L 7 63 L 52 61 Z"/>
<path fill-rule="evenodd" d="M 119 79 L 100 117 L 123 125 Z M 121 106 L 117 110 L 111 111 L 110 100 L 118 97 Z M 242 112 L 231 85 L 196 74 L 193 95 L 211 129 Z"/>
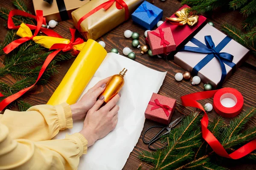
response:
<path fill-rule="evenodd" d="M 12 17 L 14 15 L 22 15 L 24 17 L 34 18 L 34 19 L 37 20 L 37 26 L 26 24 L 30 29 L 35 29 L 34 34 L 31 37 L 23 37 L 23 38 L 15 40 L 15 41 L 11 42 L 10 44 L 6 45 L 6 47 L 3 48 L 3 51 L 6 54 L 9 54 L 12 50 L 17 48 L 20 44 L 22 44 L 22 43 L 24 43 L 26 41 L 32 40 L 32 38 L 35 37 L 40 30 L 44 31 L 45 34 L 52 35 L 52 37 L 61 37 L 60 35 L 58 35 L 53 30 L 49 31 L 46 28 L 41 28 L 43 23 L 46 24 L 45 18 L 43 17 L 43 11 L 41 11 L 41 10 L 37 10 L 36 11 L 36 16 L 34 16 L 32 14 L 29 14 L 29 13 L 26 13 L 24 11 L 17 10 L 17 9 L 10 11 L 9 16 L 8 16 L 8 28 L 10 28 L 10 29 L 18 29 L 18 28 L 20 28 L 20 26 L 15 26 L 14 23 L 13 23 Z"/>

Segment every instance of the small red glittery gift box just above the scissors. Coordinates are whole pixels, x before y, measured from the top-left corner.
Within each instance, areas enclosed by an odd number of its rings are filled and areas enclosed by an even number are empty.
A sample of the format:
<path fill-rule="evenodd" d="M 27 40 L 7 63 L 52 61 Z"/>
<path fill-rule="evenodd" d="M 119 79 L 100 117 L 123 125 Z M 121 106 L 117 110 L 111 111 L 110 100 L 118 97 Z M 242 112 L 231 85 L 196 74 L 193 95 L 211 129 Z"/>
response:
<path fill-rule="evenodd" d="M 175 99 L 153 93 L 145 111 L 145 118 L 169 125 L 175 107 Z"/>

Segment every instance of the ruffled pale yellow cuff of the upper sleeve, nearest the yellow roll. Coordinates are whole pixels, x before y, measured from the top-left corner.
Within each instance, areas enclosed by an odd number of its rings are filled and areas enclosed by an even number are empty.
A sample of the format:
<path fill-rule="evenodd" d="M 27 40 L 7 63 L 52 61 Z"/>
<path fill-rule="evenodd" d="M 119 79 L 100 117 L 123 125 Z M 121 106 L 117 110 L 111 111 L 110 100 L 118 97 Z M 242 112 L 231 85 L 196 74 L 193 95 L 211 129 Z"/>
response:
<path fill-rule="evenodd" d="M 58 114 L 58 122 L 60 125 L 60 129 L 73 128 L 73 119 L 70 105 L 62 103 L 61 105 L 55 106 L 57 114 Z"/>

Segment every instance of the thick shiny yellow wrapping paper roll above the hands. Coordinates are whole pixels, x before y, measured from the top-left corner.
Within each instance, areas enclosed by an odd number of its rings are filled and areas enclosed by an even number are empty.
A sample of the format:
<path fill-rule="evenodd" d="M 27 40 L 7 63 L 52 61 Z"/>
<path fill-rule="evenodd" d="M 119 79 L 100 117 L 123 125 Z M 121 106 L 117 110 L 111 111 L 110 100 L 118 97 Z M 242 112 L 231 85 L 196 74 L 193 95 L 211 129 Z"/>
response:
<path fill-rule="evenodd" d="M 89 39 L 47 104 L 74 104 L 106 55 L 107 51 L 98 42 Z"/>

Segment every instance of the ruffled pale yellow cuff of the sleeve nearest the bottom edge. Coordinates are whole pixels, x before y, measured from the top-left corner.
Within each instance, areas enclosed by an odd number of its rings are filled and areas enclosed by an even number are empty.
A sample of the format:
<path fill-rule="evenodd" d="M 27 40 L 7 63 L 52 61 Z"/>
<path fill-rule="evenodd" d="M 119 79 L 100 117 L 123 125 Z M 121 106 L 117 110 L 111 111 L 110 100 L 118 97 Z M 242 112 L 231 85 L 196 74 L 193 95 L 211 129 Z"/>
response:
<path fill-rule="evenodd" d="M 74 133 L 72 135 L 66 134 L 66 139 L 73 139 L 76 141 L 80 148 L 79 156 L 82 156 L 83 154 L 87 153 L 88 142 L 81 133 Z"/>

